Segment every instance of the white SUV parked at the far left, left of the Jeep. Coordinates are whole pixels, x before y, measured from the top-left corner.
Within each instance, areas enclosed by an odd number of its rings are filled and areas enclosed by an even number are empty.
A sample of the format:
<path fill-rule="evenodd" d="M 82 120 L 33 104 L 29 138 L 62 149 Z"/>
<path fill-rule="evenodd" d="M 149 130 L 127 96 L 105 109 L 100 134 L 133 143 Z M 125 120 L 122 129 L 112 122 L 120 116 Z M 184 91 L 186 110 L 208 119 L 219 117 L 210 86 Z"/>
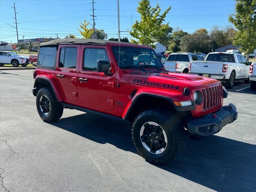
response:
<path fill-rule="evenodd" d="M 0 66 L 12 64 L 12 66 L 18 67 L 21 64 L 23 67 L 26 67 L 28 60 L 28 57 L 20 56 L 14 52 L 0 51 Z"/>

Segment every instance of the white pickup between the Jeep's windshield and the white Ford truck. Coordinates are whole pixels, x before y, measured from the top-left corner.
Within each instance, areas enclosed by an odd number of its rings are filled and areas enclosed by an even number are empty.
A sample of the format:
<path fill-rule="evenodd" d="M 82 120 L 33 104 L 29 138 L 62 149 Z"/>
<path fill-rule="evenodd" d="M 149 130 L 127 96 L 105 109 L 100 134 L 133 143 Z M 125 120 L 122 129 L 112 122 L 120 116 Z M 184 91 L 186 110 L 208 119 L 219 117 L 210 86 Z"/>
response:
<path fill-rule="evenodd" d="M 191 61 L 202 61 L 203 59 L 193 53 L 171 53 L 164 62 L 164 68 L 170 72 L 188 73 Z"/>

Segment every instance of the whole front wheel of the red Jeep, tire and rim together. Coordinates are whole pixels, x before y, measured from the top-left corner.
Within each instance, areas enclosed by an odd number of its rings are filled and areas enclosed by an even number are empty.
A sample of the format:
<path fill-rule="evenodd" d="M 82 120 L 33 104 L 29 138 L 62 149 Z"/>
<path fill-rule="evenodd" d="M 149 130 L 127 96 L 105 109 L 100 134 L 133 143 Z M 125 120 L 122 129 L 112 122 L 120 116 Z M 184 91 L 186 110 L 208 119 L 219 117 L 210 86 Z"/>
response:
<path fill-rule="evenodd" d="M 135 118 L 132 140 L 146 161 L 158 165 L 172 162 L 184 146 L 182 124 L 174 113 L 146 110 Z"/>

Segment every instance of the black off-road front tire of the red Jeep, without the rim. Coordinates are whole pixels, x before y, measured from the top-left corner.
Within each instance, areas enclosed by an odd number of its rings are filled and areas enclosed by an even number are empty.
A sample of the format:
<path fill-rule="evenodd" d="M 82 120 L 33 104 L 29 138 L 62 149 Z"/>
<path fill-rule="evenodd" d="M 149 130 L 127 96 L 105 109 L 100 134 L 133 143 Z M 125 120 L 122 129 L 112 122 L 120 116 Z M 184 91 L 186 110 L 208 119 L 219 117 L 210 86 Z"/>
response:
<path fill-rule="evenodd" d="M 146 122 L 156 122 L 165 131 L 168 143 L 161 154 L 154 154 L 144 148 L 140 139 L 140 129 Z M 160 108 L 145 110 L 138 114 L 132 124 L 132 140 L 138 154 L 147 162 L 158 165 L 169 164 L 185 148 L 185 131 L 176 116 L 172 112 Z"/>

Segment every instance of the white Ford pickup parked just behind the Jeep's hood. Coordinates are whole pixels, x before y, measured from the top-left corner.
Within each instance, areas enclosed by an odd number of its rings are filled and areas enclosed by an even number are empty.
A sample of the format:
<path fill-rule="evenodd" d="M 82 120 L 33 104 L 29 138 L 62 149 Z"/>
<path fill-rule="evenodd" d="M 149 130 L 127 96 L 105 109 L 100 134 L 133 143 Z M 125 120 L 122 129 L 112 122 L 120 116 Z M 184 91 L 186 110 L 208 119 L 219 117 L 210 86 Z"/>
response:
<path fill-rule="evenodd" d="M 192 61 L 189 73 L 208 76 L 225 83 L 226 88 L 233 88 L 235 80 L 250 83 L 248 63 L 239 53 L 212 52 L 204 61 Z"/>

